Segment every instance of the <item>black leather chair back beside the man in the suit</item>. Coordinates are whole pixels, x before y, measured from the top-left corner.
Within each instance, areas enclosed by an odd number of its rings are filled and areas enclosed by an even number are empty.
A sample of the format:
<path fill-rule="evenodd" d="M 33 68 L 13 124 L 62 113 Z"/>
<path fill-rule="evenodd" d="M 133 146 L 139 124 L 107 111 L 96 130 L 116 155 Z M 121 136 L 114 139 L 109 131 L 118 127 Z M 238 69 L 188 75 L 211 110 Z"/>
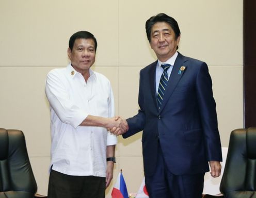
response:
<path fill-rule="evenodd" d="M 256 197 L 256 127 L 231 132 L 220 191 L 225 197 Z"/>

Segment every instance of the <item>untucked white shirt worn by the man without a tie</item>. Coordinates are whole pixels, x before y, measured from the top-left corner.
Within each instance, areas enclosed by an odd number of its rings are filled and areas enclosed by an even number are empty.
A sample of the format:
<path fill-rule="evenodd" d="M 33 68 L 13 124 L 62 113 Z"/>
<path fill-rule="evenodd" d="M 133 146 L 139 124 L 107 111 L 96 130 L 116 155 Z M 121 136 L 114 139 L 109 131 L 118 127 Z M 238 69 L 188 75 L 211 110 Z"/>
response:
<path fill-rule="evenodd" d="M 89 70 L 87 82 L 71 64 L 46 77 L 45 93 L 51 111 L 51 166 L 68 175 L 106 176 L 106 146 L 117 137 L 103 127 L 79 126 L 90 114 L 114 117 L 109 80 Z"/>

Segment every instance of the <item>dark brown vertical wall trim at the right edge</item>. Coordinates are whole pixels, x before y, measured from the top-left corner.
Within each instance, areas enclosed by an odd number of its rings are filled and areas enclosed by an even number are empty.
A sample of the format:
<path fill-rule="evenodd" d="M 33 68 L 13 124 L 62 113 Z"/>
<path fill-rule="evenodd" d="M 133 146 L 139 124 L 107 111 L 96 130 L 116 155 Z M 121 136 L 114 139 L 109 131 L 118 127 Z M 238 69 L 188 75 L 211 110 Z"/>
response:
<path fill-rule="evenodd" d="M 244 127 L 256 126 L 256 1 L 244 0 Z"/>

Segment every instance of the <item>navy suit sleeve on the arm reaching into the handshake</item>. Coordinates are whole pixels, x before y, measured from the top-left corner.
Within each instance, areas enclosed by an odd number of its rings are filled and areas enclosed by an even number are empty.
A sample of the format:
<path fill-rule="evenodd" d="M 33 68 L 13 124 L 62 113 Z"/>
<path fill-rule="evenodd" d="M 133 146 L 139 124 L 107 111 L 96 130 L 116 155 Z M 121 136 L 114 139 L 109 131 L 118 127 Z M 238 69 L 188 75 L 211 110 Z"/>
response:
<path fill-rule="evenodd" d="M 142 91 L 142 75 L 140 71 L 140 78 L 139 78 L 139 97 L 138 97 L 138 103 L 139 103 L 139 111 L 138 113 L 132 117 L 127 119 L 127 123 L 129 125 L 129 130 L 123 134 L 123 138 L 128 138 L 134 134 L 137 134 L 139 131 L 143 130 L 145 121 L 146 121 L 146 115 L 144 111 L 144 98 L 143 98 L 143 91 Z"/>

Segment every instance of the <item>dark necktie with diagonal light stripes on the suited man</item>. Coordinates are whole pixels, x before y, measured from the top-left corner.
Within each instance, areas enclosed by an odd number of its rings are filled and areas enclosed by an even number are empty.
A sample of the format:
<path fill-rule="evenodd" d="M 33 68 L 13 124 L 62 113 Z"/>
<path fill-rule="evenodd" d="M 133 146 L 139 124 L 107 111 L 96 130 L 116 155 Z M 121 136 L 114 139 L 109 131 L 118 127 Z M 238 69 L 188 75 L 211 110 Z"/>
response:
<path fill-rule="evenodd" d="M 164 94 L 165 94 L 165 88 L 167 86 L 168 83 L 168 73 L 167 70 L 170 68 L 170 64 L 162 64 L 161 67 L 164 69 L 164 72 L 160 78 L 160 82 L 159 82 L 159 86 L 158 86 L 158 91 L 157 91 L 157 104 L 158 104 L 158 108 L 160 109 L 161 105 L 162 105 L 162 101 L 164 98 Z"/>

